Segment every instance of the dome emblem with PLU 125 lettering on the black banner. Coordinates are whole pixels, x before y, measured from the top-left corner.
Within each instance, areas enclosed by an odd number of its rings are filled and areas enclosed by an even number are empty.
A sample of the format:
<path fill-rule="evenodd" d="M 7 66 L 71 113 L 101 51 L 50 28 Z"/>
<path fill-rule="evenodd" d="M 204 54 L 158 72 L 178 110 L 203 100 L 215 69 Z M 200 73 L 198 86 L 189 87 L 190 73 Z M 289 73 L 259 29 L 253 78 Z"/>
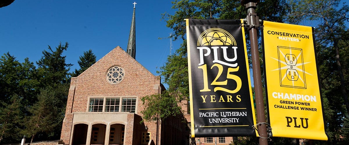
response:
<path fill-rule="evenodd" d="M 233 74 L 239 71 L 237 63 L 238 47 L 236 46 L 234 37 L 223 29 L 211 28 L 201 33 L 197 45 L 198 47 L 196 48 L 199 49 L 200 56 L 198 68 L 202 69 L 203 72 L 203 88 L 200 92 L 211 91 L 210 88 L 214 88 L 215 92 L 218 90 L 228 93 L 238 92 L 242 87 L 242 80 L 239 76 Z M 234 54 L 233 57 L 231 54 Z M 209 58 L 210 55 L 213 55 L 214 59 L 206 60 L 212 60 L 212 62 L 205 62 L 204 57 Z M 209 72 L 216 71 L 217 69 L 218 71 L 214 74 L 216 75 L 215 79 L 209 81 Z M 236 85 L 228 83 L 231 81 L 235 82 Z"/>

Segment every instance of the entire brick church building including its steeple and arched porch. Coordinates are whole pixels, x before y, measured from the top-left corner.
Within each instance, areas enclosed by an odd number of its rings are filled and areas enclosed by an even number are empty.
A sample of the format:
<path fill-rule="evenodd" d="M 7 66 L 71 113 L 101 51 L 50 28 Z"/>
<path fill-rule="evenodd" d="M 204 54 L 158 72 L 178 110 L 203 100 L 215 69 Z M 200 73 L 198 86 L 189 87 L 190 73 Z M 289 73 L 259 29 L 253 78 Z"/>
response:
<path fill-rule="evenodd" d="M 127 52 L 116 47 L 71 79 L 61 133 L 64 144 L 214 145 L 215 138 L 189 138 L 187 102 L 181 104 L 184 120 L 170 117 L 140 123 L 144 110 L 141 97 L 160 94 L 165 88 L 159 76 L 135 60 L 135 52 L 134 8 Z M 217 138 L 217 145 L 231 140 Z"/>

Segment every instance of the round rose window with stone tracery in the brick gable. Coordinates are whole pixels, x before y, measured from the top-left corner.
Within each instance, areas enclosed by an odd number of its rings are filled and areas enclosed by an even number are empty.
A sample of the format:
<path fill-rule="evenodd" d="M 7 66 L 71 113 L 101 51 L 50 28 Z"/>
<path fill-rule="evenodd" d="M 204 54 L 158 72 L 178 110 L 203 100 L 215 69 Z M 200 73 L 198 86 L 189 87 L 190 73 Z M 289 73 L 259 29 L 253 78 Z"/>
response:
<path fill-rule="evenodd" d="M 118 84 L 124 79 L 124 69 L 120 66 L 111 67 L 106 74 L 106 79 L 109 83 Z"/>

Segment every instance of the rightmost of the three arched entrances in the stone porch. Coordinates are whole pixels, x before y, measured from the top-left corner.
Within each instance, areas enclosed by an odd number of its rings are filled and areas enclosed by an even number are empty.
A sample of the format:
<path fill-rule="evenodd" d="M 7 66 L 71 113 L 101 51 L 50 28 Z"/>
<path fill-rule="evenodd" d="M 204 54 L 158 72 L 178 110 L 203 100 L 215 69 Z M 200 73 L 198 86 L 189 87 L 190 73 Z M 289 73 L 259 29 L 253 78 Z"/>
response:
<path fill-rule="evenodd" d="M 124 124 L 111 124 L 109 132 L 109 144 L 124 144 L 125 137 L 125 125 Z"/>

